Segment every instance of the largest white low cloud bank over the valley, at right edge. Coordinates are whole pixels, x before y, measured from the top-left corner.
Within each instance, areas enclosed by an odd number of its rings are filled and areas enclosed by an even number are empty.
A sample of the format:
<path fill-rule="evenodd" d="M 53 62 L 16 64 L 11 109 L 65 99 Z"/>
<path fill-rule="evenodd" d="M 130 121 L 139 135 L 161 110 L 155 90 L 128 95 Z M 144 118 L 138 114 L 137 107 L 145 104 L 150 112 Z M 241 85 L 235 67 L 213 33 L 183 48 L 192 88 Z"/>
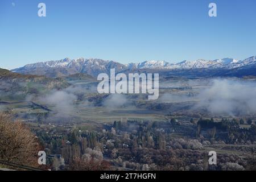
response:
<path fill-rule="evenodd" d="M 213 114 L 256 113 L 256 84 L 250 81 L 213 80 L 212 86 L 201 90 L 196 108 L 206 108 Z"/>

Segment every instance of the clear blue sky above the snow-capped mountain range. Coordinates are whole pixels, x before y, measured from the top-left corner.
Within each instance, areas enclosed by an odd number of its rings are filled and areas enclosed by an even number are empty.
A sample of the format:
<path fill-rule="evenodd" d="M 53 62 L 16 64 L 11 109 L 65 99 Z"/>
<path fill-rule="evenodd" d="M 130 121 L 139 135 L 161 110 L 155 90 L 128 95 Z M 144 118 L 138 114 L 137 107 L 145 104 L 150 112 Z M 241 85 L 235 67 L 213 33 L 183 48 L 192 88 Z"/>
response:
<path fill-rule="evenodd" d="M 1 0 L 0 67 L 64 57 L 245 59 L 256 55 L 255 9 L 255 0 Z"/>

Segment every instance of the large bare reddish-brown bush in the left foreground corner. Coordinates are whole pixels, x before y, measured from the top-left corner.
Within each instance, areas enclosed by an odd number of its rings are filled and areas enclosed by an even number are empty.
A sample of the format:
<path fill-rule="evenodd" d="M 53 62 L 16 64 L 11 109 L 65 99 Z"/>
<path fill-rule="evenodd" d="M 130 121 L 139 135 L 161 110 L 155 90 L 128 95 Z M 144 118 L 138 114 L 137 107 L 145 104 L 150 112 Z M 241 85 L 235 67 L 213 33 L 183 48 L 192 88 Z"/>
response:
<path fill-rule="evenodd" d="M 38 140 L 23 123 L 0 114 L 0 160 L 38 167 L 39 151 Z"/>

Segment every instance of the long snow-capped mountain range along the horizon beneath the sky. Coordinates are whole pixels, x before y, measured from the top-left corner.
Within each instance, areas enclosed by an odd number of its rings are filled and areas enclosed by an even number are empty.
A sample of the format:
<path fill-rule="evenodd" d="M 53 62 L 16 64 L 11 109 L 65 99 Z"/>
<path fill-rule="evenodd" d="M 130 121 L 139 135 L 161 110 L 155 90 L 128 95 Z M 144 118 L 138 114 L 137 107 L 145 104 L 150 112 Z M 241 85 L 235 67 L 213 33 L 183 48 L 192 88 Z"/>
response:
<path fill-rule="evenodd" d="M 35 64 L 27 64 L 22 68 L 13 69 L 16 73 L 44 75 L 48 77 L 63 77 L 74 75 L 76 73 L 86 73 L 96 77 L 99 73 L 109 73 L 110 69 L 115 68 L 116 72 L 129 72 L 129 70 L 163 70 L 171 72 L 179 72 L 187 69 L 213 69 L 210 72 L 220 73 L 237 72 L 239 69 L 254 69 L 256 65 L 256 56 L 249 57 L 245 60 L 235 60 L 231 58 L 216 60 L 192 60 L 181 61 L 179 63 L 168 63 L 167 61 L 143 61 L 142 63 L 121 64 L 115 61 L 107 61 L 101 59 L 76 59 L 71 60 L 65 58 L 58 61 L 47 61 Z M 224 73 L 223 73 L 224 74 Z M 255 73 L 256 74 L 256 73 Z M 232 73 L 230 73 L 232 75 Z M 222 75 L 220 75 L 222 76 Z"/>

